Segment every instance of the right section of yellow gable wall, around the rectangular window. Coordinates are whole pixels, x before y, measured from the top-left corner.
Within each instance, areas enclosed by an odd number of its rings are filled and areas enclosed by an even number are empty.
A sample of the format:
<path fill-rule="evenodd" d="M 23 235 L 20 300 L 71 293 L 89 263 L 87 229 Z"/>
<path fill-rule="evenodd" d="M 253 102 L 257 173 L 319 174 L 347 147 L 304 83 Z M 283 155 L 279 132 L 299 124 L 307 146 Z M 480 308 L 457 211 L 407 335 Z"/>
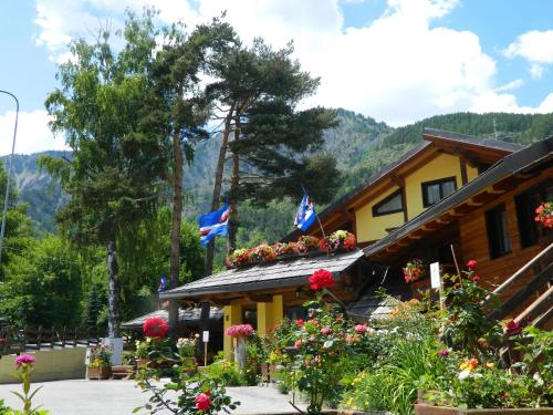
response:
<path fill-rule="evenodd" d="M 422 206 L 424 181 L 438 180 L 445 177 L 456 177 L 457 188 L 462 186 L 461 164 L 457 156 L 440 154 L 435 159 L 421 166 L 405 178 L 405 190 L 407 197 L 407 217 L 413 219 L 425 210 Z M 467 172 L 467 176 L 469 176 Z"/>

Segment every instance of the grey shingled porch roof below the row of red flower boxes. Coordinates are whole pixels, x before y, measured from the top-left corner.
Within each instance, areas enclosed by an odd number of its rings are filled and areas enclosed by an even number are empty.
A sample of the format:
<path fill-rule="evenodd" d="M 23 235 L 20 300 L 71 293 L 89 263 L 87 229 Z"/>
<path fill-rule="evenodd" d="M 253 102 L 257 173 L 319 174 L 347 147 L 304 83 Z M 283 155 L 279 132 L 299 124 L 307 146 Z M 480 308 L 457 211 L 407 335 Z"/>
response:
<path fill-rule="evenodd" d="M 258 264 L 246 269 L 228 270 L 174 290 L 161 292 L 159 298 L 161 300 L 187 299 L 226 292 L 303 286 L 306 282 L 305 278 L 321 268 L 337 273 L 336 277 L 340 278 L 341 272 L 347 270 L 363 257 L 363 251 L 355 250 L 345 253 L 303 257 L 289 261 L 281 260 L 267 264 Z"/>

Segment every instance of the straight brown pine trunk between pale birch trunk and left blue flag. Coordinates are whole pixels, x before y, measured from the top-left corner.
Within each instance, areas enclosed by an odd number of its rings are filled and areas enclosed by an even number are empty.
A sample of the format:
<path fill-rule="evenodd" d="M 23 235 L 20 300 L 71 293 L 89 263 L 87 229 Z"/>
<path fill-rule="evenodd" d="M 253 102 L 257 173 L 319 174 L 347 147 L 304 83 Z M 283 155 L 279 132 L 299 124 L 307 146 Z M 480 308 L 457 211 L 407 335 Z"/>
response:
<path fill-rule="evenodd" d="M 179 286 L 180 269 L 180 222 L 182 220 L 182 147 L 177 129 L 173 135 L 173 152 L 175 154 L 175 174 L 173 176 L 173 226 L 169 267 L 169 289 Z M 174 336 L 178 322 L 178 301 L 169 300 L 169 331 Z"/>

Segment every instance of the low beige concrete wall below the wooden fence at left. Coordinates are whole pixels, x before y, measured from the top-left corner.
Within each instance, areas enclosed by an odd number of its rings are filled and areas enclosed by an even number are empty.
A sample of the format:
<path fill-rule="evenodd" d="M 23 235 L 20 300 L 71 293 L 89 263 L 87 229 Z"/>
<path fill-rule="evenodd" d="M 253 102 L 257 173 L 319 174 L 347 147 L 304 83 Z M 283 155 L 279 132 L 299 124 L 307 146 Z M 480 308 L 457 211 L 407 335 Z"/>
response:
<path fill-rule="evenodd" d="M 28 352 L 36 359 L 33 382 L 61 381 L 67 378 L 84 378 L 86 366 L 84 356 L 86 347 L 66 347 L 51 351 Z M 15 383 L 15 355 L 10 354 L 0 359 L 0 384 Z"/>

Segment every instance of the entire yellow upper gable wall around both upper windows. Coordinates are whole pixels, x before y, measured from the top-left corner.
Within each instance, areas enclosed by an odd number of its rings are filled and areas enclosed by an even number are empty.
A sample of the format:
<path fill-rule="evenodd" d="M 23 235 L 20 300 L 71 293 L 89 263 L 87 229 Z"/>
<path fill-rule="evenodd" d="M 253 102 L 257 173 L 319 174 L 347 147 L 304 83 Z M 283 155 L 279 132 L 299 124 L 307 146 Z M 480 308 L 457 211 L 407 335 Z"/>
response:
<path fill-rule="evenodd" d="M 405 195 L 407 199 L 408 219 L 413 219 L 425 210 L 422 206 L 422 187 L 425 181 L 438 180 L 445 177 L 456 177 L 457 188 L 462 186 L 461 162 L 458 156 L 440 154 L 419 169 L 405 177 Z M 473 180 L 478 177 L 478 169 L 467 166 L 467 179 Z M 367 242 L 384 238 L 388 232 L 386 229 L 404 225 L 404 212 L 373 217 L 373 206 L 392 195 L 399 187 L 390 183 L 389 188 L 377 198 L 369 200 L 365 206 L 356 209 L 356 236 L 359 242 Z"/>

